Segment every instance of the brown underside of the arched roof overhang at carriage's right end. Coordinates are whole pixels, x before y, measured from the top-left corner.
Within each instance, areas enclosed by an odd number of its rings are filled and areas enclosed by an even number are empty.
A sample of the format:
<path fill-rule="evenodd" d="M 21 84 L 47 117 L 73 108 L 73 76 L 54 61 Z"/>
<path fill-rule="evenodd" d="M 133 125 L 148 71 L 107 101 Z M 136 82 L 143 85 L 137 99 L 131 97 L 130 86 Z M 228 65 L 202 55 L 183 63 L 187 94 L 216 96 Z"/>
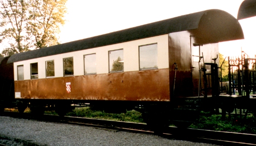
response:
<path fill-rule="evenodd" d="M 191 36 L 201 38 L 202 44 L 244 39 L 238 20 L 223 11 L 208 11 L 203 14 L 197 29 Z"/>

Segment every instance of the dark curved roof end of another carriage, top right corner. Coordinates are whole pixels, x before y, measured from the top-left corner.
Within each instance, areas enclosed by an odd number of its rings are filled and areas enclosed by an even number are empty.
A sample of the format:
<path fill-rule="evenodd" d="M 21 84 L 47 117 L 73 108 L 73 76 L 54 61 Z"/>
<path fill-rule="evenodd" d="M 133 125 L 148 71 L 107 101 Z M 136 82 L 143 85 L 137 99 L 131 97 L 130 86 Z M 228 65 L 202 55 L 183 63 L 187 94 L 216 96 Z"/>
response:
<path fill-rule="evenodd" d="M 246 19 L 256 16 L 256 0 L 244 0 L 239 7 L 237 19 Z"/>

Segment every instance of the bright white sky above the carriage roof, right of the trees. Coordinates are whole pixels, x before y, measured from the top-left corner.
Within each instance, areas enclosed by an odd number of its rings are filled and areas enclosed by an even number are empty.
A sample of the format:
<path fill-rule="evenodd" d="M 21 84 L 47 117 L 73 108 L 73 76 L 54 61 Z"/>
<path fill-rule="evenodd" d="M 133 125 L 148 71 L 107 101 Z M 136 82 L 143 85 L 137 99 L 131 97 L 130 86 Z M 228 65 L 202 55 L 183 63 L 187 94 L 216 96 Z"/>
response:
<path fill-rule="evenodd" d="M 222 9 L 235 18 L 243 0 L 68 0 L 68 22 L 61 28 L 60 41 L 71 42 L 105 33 L 169 19 L 206 9 Z M 224 56 L 238 56 L 242 49 L 254 51 L 256 18 L 239 20 L 245 40 L 222 42 Z"/>

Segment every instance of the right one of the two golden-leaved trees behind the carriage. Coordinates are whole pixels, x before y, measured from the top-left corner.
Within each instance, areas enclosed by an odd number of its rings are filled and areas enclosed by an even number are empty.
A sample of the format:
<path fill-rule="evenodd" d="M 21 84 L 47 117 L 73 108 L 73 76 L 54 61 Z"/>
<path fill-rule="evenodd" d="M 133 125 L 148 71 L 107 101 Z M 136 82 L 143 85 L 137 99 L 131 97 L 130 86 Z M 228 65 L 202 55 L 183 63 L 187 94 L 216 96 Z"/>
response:
<path fill-rule="evenodd" d="M 36 48 L 58 44 L 55 34 L 59 26 L 65 24 L 64 14 L 67 12 L 67 0 L 30 0 L 27 33 L 33 37 Z"/>

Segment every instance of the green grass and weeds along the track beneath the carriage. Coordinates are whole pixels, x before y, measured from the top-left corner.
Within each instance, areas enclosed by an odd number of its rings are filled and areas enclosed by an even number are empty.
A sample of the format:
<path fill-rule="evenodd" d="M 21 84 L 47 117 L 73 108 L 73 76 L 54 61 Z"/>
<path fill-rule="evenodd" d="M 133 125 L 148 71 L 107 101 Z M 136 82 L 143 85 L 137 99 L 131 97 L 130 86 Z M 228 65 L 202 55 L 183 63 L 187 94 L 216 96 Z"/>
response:
<path fill-rule="evenodd" d="M 5 111 L 18 112 L 18 110 L 13 108 L 5 108 Z M 25 110 L 25 113 L 30 113 L 29 108 Z M 45 111 L 44 113 L 58 115 L 54 111 Z M 190 125 L 190 128 L 256 134 L 256 118 L 253 114 L 247 115 L 246 118 L 244 116 L 240 117 L 239 115 L 227 115 L 225 120 L 223 120 L 221 115 L 201 113 L 197 121 Z M 88 107 L 83 107 L 75 108 L 72 112 L 67 113 L 67 116 L 143 123 L 141 113 L 135 110 L 117 114 L 93 111 Z"/>

